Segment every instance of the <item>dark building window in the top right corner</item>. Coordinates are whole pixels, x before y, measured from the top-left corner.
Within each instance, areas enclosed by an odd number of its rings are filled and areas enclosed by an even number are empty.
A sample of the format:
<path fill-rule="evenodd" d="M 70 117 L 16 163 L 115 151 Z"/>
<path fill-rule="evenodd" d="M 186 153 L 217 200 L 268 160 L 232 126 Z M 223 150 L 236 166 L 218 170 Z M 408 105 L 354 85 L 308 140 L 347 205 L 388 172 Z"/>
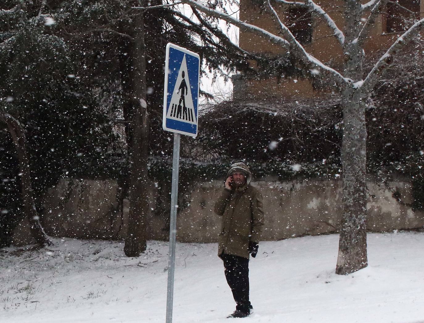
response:
<path fill-rule="evenodd" d="M 396 3 L 388 3 L 386 32 L 396 33 L 407 30 L 419 19 L 419 12 L 420 0 L 396 0 Z"/>

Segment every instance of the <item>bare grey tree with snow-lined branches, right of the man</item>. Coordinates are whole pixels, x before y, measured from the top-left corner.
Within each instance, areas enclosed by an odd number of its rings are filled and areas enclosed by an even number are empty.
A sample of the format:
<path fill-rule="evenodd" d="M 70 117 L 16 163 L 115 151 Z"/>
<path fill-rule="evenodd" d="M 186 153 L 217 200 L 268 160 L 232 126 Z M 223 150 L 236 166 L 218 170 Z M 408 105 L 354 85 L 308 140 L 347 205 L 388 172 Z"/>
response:
<path fill-rule="evenodd" d="M 364 101 L 378 81 L 382 70 L 393 61 L 393 56 L 422 30 L 424 19 L 413 23 L 401 37 L 396 39 L 364 77 L 364 43 L 369 31 L 375 25 L 376 18 L 385 9 L 387 0 L 371 0 L 365 4 L 357 0 L 344 0 L 343 31 L 332 19 L 330 13 L 312 0 L 264 0 L 262 9 L 271 15 L 278 28 L 278 33 L 275 34 L 216 10 L 215 6 L 205 6 L 195 0 L 182 0 L 182 2 L 190 5 L 193 10 L 225 20 L 239 27 L 241 31 L 257 34 L 279 45 L 304 65 L 307 76 L 340 93 L 343 109 L 341 149 L 343 212 L 336 273 L 348 274 L 366 267 L 368 265 L 365 227 L 367 131 Z M 337 66 L 324 64 L 308 53 L 285 25 L 284 19 L 274 9 L 275 5 L 306 8 L 317 19 L 323 20 L 332 31 L 331 36 L 337 39 L 343 49 L 343 67 L 338 69 Z"/>

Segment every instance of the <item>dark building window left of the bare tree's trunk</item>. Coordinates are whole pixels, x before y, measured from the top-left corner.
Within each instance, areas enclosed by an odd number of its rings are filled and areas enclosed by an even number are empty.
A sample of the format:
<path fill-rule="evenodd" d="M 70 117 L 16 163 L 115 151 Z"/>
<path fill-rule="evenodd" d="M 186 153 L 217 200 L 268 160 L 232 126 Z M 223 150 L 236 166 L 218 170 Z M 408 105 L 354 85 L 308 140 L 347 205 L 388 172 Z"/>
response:
<path fill-rule="evenodd" d="M 312 14 L 307 8 L 289 8 L 287 20 L 287 27 L 301 45 L 312 41 Z"/>

